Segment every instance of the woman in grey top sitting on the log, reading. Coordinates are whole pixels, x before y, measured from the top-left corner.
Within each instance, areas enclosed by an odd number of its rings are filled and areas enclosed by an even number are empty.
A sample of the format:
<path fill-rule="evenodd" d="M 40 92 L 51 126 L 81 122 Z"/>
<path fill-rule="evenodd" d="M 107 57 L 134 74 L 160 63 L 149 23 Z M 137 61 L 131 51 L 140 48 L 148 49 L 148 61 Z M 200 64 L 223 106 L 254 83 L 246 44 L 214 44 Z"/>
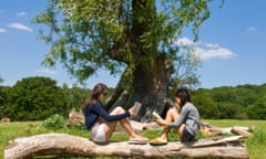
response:
<path fill-rule="evenodd" d="M 200 114 L 191 103 L 191 97 L 185 88 L 178 88 L 175 93 L 175 106 L 170 108 L 166 118 L 155 115 L 155 121 L 164 127 L 161 137 L 151 142 L 167 144 L 170 128 L 175 128 L 181 141 L 195 141 L 200 129 Z"/>

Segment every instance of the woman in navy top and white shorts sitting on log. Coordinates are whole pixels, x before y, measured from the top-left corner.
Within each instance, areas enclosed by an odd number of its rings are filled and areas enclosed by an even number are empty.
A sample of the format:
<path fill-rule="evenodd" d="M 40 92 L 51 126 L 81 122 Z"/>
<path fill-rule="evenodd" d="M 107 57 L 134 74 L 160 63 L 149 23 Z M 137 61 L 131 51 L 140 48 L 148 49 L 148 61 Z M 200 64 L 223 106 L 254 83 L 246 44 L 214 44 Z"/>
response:
<path fill-rule="evenodd" d="M 106 142 L 115 130 L 116 124 L 121 126 L 130 136 L 130 141 L 147 141 L 137 135 L 132 128 L 127 117 L 134 114 L 135 106 L 129 110 L 115 107 L 110 114 L 103 108 L 102 102 L 106 96 L 106 85 L 99 83 L 94 86 L 90 97 L 84 102 L 82 110 L 84 114 L 85 126 L 90 130 L 92 140 L 95 142 Z"/>

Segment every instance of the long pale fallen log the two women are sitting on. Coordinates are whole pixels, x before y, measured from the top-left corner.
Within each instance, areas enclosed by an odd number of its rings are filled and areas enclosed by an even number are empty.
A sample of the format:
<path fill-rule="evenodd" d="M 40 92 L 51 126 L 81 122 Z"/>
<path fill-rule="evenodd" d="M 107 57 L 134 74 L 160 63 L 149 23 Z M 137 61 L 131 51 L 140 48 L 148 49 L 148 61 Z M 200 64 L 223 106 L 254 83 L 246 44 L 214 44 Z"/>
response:
<path fill-rule="evenodd" d="M 242 136 L 196 142 L 171 141 L 164 146 L 132 145 L 127 141 L 96 145 L 88 138 L 68 134 L 42 134 L 10 141 L 4 159 L 25 159 L 47 155 L 123 158 L 231 158 L 248 159 Z"/>

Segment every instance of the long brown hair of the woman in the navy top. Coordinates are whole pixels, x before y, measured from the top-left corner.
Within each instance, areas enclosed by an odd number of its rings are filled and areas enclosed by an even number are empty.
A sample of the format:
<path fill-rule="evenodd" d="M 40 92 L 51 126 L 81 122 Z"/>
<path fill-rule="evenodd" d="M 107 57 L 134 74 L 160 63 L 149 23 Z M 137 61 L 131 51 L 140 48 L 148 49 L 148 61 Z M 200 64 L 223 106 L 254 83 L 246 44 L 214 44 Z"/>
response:
<path fill-rule="evenodd" d="M 108 89 L 108 86 L 105 84 L 103 84 L 103 83 L 96 84 L 93 87 L 91 95 L 84 100 L 84 103 L 82 105 L 82 109 L 88 107 L 91 103 L 98 100 L 99 96 L 101 94 L 104 94 L 106 89 Z"/>

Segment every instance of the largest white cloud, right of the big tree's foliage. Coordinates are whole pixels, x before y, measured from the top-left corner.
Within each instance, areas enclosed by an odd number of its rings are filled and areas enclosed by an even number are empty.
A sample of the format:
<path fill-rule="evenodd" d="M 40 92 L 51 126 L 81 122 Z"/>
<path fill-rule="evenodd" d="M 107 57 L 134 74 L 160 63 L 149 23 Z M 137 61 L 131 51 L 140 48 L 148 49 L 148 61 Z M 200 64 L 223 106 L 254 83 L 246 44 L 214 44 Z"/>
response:
<path fill-rule="evenodd" d="M 178 45 L 188 45 L 195 49 L 195 54 L 202 60 L 212 60 L 212 59 L 232 59 L 236 54 L 229 49 L 221 47 L 218 44 L 208 43 L 208 42 L 193 42 L 188 38 L 182 38 L 177 40 L 176 44 Z"/>

